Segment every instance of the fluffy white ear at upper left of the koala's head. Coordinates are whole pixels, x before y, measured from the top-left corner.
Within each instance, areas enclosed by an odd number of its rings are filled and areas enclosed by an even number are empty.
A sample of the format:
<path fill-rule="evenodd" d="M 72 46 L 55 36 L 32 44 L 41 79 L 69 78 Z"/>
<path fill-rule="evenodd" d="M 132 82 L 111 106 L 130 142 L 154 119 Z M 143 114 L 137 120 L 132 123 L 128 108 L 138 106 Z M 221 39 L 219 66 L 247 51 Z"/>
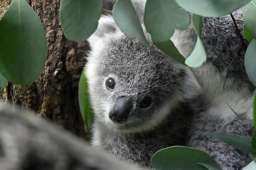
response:
<path fill-rule="evenodd" d="M 98 38 L 102 38 L 106 36 L 107 34 L 114 33 L 118 31 L 119 28 L 114 22 L 114 19 L 112 16 L 101 16 L 98 24 L 97 30 L 90 36 L 87 41 L 89 43 L 93 43 Z"/>

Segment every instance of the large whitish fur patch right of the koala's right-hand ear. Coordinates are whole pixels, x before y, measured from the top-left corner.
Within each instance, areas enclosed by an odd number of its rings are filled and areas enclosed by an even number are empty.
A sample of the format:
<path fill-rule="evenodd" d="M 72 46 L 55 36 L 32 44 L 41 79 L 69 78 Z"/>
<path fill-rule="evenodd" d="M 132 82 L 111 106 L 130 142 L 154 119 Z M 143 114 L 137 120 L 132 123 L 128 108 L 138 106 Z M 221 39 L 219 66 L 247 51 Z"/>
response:
<path fill-rule="evenodd" d="M 223 89 L 226 72 L 220 73 L 210 64 L 195 68 L 193 72 L 203 89 L 206 116 L 217 117 L 228 123 L 236 117 L 231 107 L 237 114 L 246 114 L 252 118 L 253 97 L 249 85 L 228 78 Z"/>

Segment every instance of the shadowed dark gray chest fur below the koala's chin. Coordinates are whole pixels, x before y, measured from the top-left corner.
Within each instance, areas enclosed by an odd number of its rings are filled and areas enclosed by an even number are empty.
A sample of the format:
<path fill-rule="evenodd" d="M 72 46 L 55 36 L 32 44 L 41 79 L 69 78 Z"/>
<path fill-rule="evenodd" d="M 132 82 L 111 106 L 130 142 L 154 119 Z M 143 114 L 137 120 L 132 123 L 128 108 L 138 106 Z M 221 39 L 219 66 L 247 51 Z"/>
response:
<path fill-rule="evenodd" d="M 94 145 L 103 146 L 119 159 L 149 167 L 150 158 L 156 151 L 170 146 L 187 145 L 193 118 L 194 112 L 188 107 L 188 103 L 181 103 L 173 116 L 167 117 L 163 124 L 148 132 L 120 134 L 108 129 L 99 130 L 97 128 L 100 126 L 96 125 L 94 130 L 103 133 L 100 134 L 100 139 L 94 139 L 94 142 L 99 142 Z"/>

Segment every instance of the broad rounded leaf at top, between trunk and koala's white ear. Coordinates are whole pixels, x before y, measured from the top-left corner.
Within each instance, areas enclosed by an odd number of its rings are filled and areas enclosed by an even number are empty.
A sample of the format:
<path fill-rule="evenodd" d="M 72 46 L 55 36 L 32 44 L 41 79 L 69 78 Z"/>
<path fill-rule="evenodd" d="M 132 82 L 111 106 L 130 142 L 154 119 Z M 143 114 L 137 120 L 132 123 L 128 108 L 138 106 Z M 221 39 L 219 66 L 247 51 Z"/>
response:
<path fill-rule="evenodd" d="M 98 26 L 102 0 L 61 0 L 60 21 L 68 40 L 81 42 L 94 33 Z"/>

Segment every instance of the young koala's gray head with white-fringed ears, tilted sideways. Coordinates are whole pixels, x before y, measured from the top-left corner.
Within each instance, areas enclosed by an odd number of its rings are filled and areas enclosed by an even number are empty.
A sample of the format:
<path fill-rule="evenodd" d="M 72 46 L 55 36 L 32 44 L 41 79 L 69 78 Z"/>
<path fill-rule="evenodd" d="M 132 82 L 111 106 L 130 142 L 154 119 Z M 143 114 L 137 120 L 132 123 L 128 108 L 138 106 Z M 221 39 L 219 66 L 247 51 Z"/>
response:
<path fill-rule="evenodd" d="M 95 121 L 126 133 L 154 128 L 183 99 L 200 93 L 190 69 L 127 38 L 112 17 L 102 17 L 93 36 L 86 76 Z"/>

